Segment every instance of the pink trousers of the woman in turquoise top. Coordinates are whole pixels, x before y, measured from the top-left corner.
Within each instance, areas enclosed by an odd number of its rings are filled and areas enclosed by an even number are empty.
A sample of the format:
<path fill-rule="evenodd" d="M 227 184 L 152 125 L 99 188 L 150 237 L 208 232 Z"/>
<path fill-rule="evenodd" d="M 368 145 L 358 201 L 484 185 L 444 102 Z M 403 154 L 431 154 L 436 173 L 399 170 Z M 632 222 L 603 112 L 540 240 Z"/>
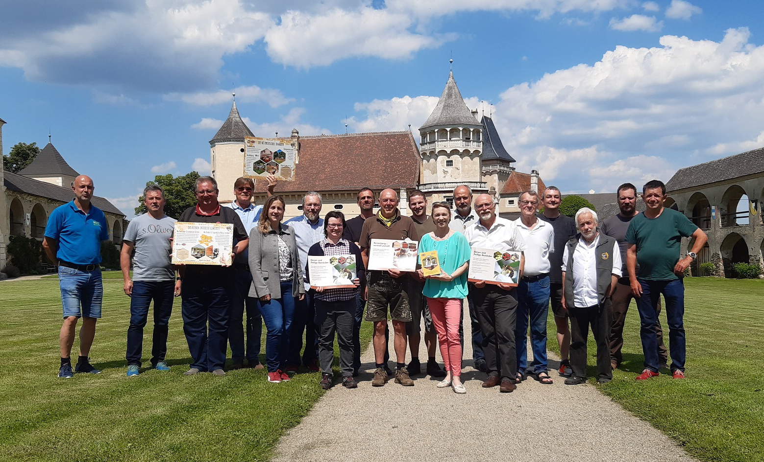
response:
<path fill-rule="evenodd" d="M 438 332 L 440 354 L 445 363 L 445 370 L 452 375 L 461 375 L 461 342 L 459 323 L 461 323 L 461 299 L 428 298 L 427 306 L 432 315 L 432 324 Z"/>

